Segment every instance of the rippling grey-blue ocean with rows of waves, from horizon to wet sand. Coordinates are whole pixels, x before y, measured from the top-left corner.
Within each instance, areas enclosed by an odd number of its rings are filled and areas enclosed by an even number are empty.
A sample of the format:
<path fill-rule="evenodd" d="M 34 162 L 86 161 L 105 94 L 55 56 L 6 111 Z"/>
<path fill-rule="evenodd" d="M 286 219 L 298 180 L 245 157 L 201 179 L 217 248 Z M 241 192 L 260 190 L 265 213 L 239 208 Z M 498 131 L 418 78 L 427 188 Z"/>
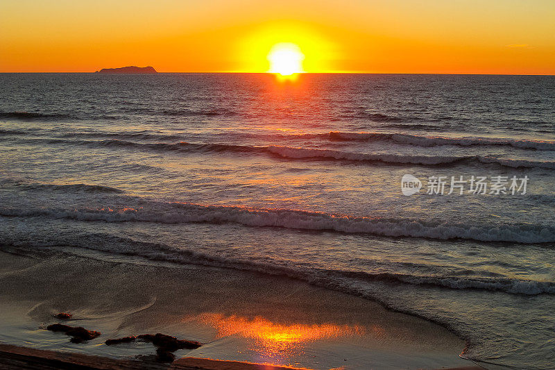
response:
<path fill-rule="evenodd" d="M 555 367 L 555 76 L 0 74 L 0 243 L 289 276 Z"/>

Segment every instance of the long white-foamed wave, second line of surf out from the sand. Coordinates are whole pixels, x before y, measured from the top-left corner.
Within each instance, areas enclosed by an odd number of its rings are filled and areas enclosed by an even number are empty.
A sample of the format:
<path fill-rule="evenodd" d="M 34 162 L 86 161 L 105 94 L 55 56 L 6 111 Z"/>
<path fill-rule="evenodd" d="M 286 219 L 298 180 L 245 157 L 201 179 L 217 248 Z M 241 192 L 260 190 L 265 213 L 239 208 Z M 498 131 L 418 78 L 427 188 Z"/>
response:
<path fill-rule="evenodd" d="M 162 224 L 235 223 L 243 226 L 332 230 L 340 233 L 367 233 L 386 237 L 470 239 L 480 242 L 525 244 L 555 242 L 555 228 L 542 225 L 432 224 L 412 219 L 355 217 L 289 209 L 243 208 L 177 202 L 152 202 L 144 208 L 0 208 L 0 216 L 39 216 L 106 222 L 141 221 Z"/>

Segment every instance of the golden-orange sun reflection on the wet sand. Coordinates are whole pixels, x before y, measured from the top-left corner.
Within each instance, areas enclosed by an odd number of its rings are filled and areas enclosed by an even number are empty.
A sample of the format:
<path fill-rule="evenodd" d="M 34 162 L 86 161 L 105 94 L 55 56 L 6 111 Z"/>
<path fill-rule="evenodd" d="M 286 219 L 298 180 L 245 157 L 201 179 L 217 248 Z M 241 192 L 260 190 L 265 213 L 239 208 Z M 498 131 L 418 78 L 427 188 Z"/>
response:
<path fill-rule="evenodd" d="M 264 317 L 225 317 L 217 313 L 200 314 L 194 318 L 216 329 L 216 337 L 240 336 L 249 342 L 248 348 L 255 351 L 264 360 L 282 360 L 302 353 L 309 342 L 318 339 L 330 339 L 364 335 L 364 326 L 336 325 L 323 323 L 307 325 L 304 323 L 274 323 Z M 374 331 L 374 330 L 372 330 Z"/>

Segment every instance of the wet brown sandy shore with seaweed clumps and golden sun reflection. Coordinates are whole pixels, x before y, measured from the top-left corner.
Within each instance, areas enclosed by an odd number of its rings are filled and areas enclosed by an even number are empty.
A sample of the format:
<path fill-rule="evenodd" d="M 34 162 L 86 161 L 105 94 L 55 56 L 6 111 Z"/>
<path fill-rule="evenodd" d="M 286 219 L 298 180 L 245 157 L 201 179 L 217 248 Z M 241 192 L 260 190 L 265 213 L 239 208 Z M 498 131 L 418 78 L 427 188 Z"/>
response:
<path fill-rule="evenodd" d="M 152 344 L 104 342 L 164 333 L 203 344 L 176 351 L 174 364 L 205 358 L 307 369 L 472 366 L 458 357 L 463 341 L 434 323 L 297 280 L 228 269 L 89 252 L 0 252 L 0 306 L 0 342 L 55 353 L 152 364 Z M 101 336 L 74 344 L 45 330 L 59 321 L 57 312 L 71 312 L 64 323 Z"/>

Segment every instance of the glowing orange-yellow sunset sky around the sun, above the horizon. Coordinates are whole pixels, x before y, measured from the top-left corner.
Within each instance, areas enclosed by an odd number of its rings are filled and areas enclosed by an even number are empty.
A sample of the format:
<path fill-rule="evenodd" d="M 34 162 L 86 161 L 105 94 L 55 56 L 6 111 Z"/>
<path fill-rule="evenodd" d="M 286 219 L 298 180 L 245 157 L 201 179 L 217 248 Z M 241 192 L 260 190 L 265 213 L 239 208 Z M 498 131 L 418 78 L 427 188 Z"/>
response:
<path fill-rule="evenodd" d="M 1 0 L 0 72 L 555 74 L 555 0 Z"/>

